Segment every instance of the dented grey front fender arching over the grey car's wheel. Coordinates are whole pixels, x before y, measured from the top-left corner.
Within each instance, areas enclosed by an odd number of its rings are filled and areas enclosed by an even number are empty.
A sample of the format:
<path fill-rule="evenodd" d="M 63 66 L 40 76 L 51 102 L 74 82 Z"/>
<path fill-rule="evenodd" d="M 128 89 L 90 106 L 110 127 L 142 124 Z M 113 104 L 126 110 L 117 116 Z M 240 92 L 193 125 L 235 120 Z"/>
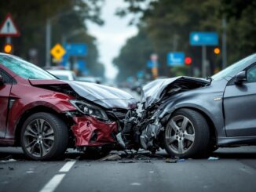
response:
<path fill-rule="evenodd" d="M 181 92 L 165 100 L 159 107 L 158 112 L 156 112 L 156 116 L 166 121 L 175 110 L 191 108 L 198 110 L 201 114 L 209 118 L 218 136 L 226 136 L 222 110 L 222 96 L 223 92 L 211 92 L 211 94 L 209 94 L 207 92 L 200 92 L 198 89 Z"/>

